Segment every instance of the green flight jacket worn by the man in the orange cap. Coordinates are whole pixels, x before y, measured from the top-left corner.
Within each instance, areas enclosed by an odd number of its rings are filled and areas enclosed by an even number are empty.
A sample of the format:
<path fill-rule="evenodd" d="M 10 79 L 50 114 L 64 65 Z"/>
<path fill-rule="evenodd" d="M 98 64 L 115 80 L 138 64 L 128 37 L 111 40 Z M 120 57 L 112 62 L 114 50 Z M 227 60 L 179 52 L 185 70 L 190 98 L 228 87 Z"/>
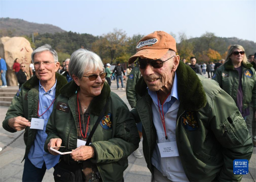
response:
<path fill-rule="evenodd" d="M 176 73 L 180 98 L 176 142 L 188 180 L 240 181 L 242 175 L 233 174 L 233 160 L 249 160 L 253 144 L 234 100 L 217 82 L 196 75 L 183 62 L 179 63 Z M 132 114 L 135 120 L 142 122 L 143 153 L 148 169 L 154 174 L 151 157 L 156 145 L 156 129 L 152 120 L 152 99 L 143 78 L 135 90 L 141 98 Z"/>

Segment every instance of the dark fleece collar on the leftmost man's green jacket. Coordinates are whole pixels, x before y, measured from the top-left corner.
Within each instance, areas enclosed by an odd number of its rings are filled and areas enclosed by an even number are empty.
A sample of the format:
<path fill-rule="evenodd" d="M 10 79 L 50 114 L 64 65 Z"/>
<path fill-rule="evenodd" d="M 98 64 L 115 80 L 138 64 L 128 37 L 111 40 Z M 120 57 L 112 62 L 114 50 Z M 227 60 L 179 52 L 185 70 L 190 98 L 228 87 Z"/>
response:
<path fill-rule="evenodd" d="M 63 87 L 65 84 L 68 83 L 67 79 L 64 76 L 61 76 L 59 73 L 55 73 L 55 77 L 57 79 L 56 83 L 56 91 L 55 91 L 55 98 L 60 95 L 60 88 Z M 32 76 L 28 81 L 26 81 L 23 87 L 32 89 L 35 86 L 39 86 L 39 79 L 36 76 Z"/>

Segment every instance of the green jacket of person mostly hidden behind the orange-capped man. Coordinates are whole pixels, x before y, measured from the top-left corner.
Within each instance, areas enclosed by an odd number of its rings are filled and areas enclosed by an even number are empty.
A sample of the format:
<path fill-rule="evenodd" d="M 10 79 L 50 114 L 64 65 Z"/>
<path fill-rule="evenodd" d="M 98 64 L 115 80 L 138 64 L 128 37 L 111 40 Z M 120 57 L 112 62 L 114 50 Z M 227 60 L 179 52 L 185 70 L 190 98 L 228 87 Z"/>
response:
<path fill-rule="evenodd" d="M 132 69 L 126 83 L 126 98 L 132 108 L 135 107 L 136 101 L 140 98 L 139 94 L 136 93 L 134 88 L 140 77 L 140 69 L 138 67 L 135 67 Z"/>

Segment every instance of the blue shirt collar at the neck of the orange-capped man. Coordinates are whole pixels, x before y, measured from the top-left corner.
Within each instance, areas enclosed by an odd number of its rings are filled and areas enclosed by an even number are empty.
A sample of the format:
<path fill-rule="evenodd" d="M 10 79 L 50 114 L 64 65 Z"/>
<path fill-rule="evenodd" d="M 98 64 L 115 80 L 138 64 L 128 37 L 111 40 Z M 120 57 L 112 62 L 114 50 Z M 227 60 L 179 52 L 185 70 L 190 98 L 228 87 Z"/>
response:
<path fill-rule="evenodd" d="M 156 91 L 150 91 L 148 89 L 148 94 L 150 95 L 150 97 L 152 98 L 156 106 L 158 106 L 158 98 L 157 98 Z M 177 88 L 177 74 L 175 72 L 171 94 L 167 97 L 167 99 L 163 103 L 164 114 L 167 113 L 168 109 L 172 106 L 172 104 L 175 102 L 176 99 L 179 101 L 178 88 Z M 162 113 L 162 105 L 160 102 L 159 102 L 159 106 L 160 106 L 160 111 Z"/>

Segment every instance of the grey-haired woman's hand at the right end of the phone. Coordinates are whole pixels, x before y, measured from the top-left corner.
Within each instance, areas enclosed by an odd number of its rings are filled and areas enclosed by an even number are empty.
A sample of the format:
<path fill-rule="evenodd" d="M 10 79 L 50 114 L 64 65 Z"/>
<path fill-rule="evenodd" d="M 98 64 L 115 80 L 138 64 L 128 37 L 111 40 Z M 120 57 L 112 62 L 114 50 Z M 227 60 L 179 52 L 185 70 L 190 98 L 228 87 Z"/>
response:
<path fill-rule="evenodd" d="M 82 145 L 72 151 L 73 152 L 70 154 L 70 156 L 72 159 L 74 159 L 74 161 L 85 161 L 94 156 L 94 149 L 91 146 Z"/>

